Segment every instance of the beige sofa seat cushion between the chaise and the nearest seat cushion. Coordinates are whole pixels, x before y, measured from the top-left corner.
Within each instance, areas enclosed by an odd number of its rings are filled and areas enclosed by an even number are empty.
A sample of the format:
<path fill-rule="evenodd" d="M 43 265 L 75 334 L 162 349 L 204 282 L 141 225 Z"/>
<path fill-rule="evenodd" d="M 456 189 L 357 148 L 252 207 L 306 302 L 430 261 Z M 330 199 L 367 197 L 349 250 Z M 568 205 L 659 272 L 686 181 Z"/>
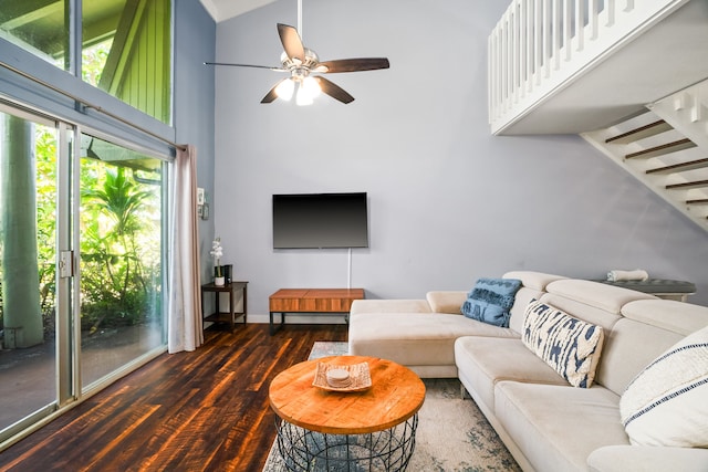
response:
<path fill-rule="evenodd" d="M 477 401 L 494 409 L 494 386 L 503 380 L 568 386 L 519 338 L 466 336 L 455 342 L 455 363 L 464 385 Z"/>

